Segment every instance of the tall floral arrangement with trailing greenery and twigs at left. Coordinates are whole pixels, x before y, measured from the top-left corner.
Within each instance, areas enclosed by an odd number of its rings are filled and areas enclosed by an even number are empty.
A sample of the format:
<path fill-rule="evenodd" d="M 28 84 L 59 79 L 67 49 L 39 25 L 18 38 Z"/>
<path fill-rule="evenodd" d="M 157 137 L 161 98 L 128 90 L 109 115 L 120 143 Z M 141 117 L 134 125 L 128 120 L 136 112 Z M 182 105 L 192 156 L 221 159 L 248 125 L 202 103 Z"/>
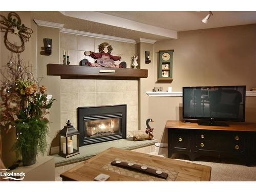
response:
<path fill-rule="evenodd" d="M 47 101 L 46 87 L 39 86 L 29 70 L 31 66 L 24 66 L 19 54 L 15 58 L 11 57 L 2 73 L 1 126 L 7 132 L 16 129 L 14 149 L 26 166 L 35 163 L 38 152 L 46 151 L 49 121 L 45 116 L 55 99 Z"/>

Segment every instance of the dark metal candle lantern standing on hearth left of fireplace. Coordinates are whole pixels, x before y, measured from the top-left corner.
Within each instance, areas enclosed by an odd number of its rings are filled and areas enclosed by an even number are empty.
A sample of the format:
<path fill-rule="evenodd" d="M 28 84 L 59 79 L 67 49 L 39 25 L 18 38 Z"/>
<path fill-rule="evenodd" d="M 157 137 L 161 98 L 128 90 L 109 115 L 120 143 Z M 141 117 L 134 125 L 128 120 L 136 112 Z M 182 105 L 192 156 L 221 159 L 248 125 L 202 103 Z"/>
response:
<path fill-rule="evenodd" d="M 65 158 L 79 154 L 79 137 L 80 134 L 70 120 L 67 125 L 59 132 L 59 155 Z"/>

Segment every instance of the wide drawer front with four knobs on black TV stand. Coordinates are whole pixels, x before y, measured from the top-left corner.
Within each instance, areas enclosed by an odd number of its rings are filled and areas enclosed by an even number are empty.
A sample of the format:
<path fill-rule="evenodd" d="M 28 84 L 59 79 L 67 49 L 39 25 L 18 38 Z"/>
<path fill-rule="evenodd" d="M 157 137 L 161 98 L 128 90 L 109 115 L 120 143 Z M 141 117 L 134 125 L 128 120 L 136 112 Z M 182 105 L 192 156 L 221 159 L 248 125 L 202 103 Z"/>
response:
<path fill-rule="evenodd" d="M 199 151 L 243 153 L 245 135 L 230 131 L 198 131 L 196 148 Z"/>

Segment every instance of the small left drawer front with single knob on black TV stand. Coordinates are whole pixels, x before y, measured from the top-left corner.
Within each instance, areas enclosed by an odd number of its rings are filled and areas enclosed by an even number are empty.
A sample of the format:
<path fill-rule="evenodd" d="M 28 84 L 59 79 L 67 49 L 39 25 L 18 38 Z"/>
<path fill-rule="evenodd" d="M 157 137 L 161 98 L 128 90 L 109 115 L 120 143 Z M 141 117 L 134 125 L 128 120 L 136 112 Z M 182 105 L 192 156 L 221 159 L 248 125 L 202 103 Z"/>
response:
<path fill-rule="evenodd" d="M 172 131 L 170 132 L 170 138 L 170 147 L 173 150 L 189 150 L 189 134 L 181 131 Z"/>

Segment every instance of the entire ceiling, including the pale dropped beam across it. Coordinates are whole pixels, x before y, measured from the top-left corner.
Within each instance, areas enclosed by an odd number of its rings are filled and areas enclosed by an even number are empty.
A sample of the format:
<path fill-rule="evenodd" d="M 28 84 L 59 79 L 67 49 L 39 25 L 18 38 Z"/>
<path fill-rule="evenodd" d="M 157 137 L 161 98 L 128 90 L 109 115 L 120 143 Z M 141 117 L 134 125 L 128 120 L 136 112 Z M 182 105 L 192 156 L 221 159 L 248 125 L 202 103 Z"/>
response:
<path fill-rule="evenodd" d="M 256 11 L 32 11 L 33 19 L 64 24 L 64 28 L 115 37 L 165 40 L 178 31 L 256 24 Z"/>

